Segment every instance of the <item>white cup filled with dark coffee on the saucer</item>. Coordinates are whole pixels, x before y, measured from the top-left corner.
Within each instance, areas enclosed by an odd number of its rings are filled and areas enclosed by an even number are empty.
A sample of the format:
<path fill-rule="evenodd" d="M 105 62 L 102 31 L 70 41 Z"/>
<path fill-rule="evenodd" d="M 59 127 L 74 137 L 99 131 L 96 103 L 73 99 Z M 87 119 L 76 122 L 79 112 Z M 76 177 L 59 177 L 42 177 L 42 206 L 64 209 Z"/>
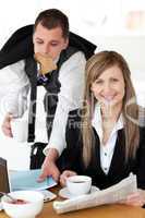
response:
<path fill-rule="evenodd" d="M 92 187 L 92 178 L 87 175 L 72 175 L 67 179 L 67 187 L 73 195 L 87 194 Z"/>

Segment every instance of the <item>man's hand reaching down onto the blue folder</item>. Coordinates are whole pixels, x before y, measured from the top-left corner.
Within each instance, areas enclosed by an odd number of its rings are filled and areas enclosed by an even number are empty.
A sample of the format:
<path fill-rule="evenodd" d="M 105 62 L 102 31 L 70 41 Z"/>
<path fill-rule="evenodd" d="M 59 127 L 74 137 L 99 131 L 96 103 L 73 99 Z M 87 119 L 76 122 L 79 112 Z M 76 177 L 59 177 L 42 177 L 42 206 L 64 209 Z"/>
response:
<path fill-rule="evenodd" d="M 38 178 L 38 182 L 43 182 L 48 175 L 51 175 L 53 180 L 59 181 L 60 171 L 56 165 L 56 160 L 59 157 L 57 149 L 49 148 L 48 155 L 41 166 L 43 172 Z"/>

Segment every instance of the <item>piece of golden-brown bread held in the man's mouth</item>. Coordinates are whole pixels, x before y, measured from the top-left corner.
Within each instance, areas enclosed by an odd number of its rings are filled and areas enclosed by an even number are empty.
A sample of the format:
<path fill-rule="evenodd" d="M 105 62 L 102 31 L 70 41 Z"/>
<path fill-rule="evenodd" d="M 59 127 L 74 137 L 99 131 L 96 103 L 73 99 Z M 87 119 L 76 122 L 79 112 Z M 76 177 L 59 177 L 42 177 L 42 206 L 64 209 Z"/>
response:
<path fill-rule="evenodd" d="M 40 74 L 45 75 L 57 69 L 57 64 L 53 63 L 52 59 L 48 55 L 35 53 L 35 60 L 40 65 Z"/>

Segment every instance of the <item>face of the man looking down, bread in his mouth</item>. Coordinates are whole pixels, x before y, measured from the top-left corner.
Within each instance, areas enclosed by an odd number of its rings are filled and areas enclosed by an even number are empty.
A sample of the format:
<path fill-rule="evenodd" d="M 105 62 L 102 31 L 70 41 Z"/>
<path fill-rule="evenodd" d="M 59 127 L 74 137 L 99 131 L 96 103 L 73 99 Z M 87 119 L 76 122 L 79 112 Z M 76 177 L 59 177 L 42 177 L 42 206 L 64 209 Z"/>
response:
<path fill-rule="evenodd" d="M 61 27 L 48 29 L 39 23 L 33 36 L 34 52 L 48 55 L 55 60 L 67 48 L 68 41 L 62 36 Z"/>

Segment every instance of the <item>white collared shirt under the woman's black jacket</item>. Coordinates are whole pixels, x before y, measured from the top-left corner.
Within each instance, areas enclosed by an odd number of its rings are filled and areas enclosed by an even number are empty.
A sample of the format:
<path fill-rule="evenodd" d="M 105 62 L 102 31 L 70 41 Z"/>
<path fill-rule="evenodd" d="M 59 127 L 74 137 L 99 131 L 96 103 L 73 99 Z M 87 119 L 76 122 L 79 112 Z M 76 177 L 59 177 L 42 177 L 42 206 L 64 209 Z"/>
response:
<path fill-rule="evenodd" d="M 101 120 L 101 112 L 99 104 L 95 106 L 95 112 L 92 120 L 92 125 L 96 130 L 99 141 L 100 141 L 100 166 L 101 169 L 106 174 L 109 172 L 109 168 L 111 165 L 112 155 L 114 152 L 114 146 L 118 137 L 118 131 L 123 129 L 123 119 L 122 114 L 120 116 L 119 120 L 114 124 L 111 134 L 108 138 L 106 145 L 102 144 L 102 120 Z"/>

